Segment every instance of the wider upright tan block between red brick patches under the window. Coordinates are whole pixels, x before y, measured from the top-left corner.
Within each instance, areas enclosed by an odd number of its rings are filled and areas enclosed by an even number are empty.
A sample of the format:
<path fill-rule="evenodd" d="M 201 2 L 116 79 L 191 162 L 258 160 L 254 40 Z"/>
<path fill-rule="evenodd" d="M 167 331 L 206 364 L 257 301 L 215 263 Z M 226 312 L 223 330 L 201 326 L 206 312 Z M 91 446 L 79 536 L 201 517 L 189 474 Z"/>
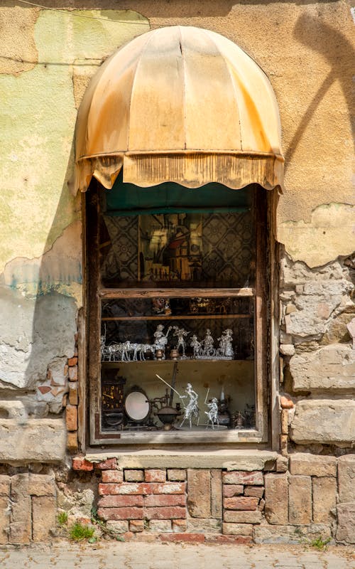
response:
<path fill-rule="evenodd" d="M 192 518 L 211 517 L 211 475 L 207 469 L 187 469 L 187 508 Z"/>

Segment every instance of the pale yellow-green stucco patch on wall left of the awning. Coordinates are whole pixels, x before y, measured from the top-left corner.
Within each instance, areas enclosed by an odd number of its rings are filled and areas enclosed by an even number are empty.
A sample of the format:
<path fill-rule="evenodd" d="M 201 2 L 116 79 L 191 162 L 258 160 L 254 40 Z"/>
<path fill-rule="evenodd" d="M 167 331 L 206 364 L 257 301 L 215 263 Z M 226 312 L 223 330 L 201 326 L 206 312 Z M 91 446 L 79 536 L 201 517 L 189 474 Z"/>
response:
<path fill-rule="evenodd" d="M 2 12 L 12 33 L 21 28 L 23 14 L 32 23 L 27 8 Z M 148 30 L 148 22 L 132 11 L 84 14 L 107 21 L 39 11 L 33 28 L 24 31 L 31 44 L 28 58 L 37 53 L 38 63 L 12 75 L 0 60 L 0 129 L 6 132 L 0 140 L 0 274 L 16 257 L 43 255 L 80 218 L 80 196 L 73 198 L 68 189 L 76 119 L 73 75 L 82 68 L 94 73 L 117 46 Z M 66 246 L 80 262 L 80 240 Z"/>

